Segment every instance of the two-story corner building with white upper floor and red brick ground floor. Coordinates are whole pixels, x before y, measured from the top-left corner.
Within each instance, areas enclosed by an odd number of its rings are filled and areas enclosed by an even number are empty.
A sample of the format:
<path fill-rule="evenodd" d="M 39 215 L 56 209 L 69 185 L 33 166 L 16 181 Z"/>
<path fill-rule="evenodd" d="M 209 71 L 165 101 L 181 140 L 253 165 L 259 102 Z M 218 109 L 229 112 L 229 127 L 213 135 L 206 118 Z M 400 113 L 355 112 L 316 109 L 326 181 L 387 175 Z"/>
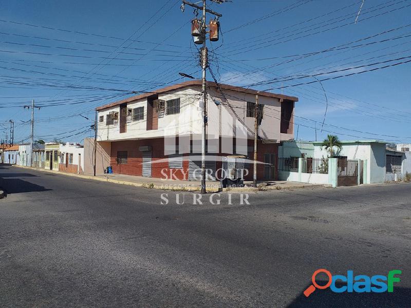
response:
<path fill-rule="evenodd" d="M 295 97 L 207 83 L 208 177 L 221 157 L 253 159 L 258 93 L 258 179 L 276 179 L 281 141 L 294 138 Z M 198 180 L 201 168 L 201 81 L 189 81 L 97 108 L 97 141 L 115 174 Z M 253 164 L 246 163 L 252 179 Z M 107 166 L 104 166 L 107 167 Z M 197 173 L 196 173 L 197 172 Z"/>

